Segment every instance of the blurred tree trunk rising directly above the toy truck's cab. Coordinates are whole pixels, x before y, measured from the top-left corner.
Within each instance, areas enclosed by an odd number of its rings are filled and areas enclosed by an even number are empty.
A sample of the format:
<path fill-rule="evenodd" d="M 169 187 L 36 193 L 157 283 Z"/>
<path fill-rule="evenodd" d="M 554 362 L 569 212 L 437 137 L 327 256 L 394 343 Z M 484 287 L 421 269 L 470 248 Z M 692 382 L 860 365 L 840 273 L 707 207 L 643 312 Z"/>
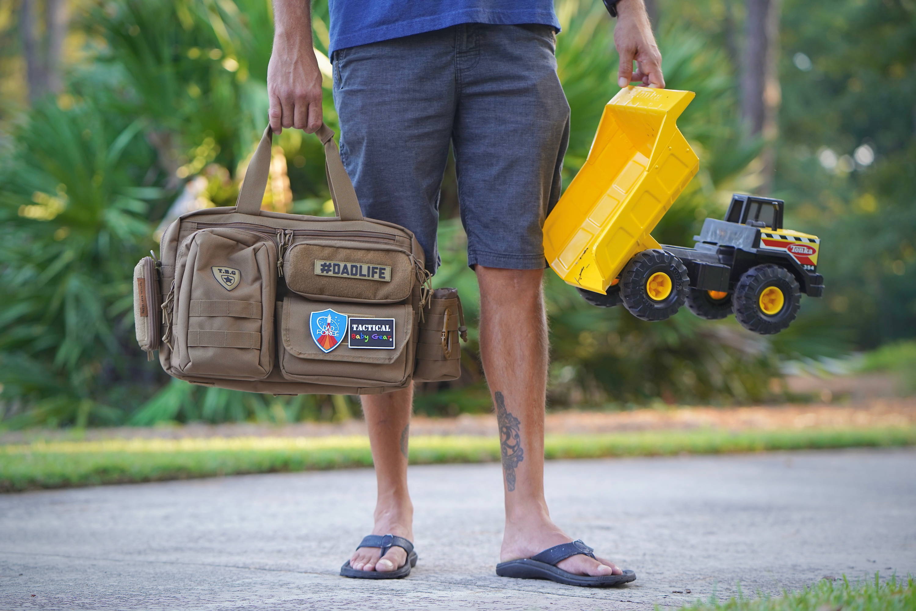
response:
<path fill-rule="evenodd" d="M 741 62 L 741 115 L 750 136 L 763 136 L 761 191 L 772 187 L 780 108 L 780 0 L 747 0 L 745 49 Z"/>

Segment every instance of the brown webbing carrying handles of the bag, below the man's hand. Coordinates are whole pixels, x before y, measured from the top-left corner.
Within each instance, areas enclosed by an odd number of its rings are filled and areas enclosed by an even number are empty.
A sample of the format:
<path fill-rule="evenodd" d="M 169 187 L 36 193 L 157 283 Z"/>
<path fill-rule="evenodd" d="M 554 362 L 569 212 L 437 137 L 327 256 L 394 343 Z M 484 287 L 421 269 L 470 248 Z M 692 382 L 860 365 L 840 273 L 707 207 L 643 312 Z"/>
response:
<path fill-rule="evenodd" d="M 353 182 L 344 169 L 340 151 L 334 142 L 334 133 L 330 127 L 324 125 L 318 128 L 315 136 L 324 145 L 324 174 L 328 177 L 328 188 L 331 190 L 331 199 L 334 202 L 334 213 L 341 221 L 362 221 L 363 213 L 359 209 L 359 200 Z M 238 193 L 235 208 L 240 213 L 258 215 L 261 213 L 261 202 L 264 200 L 264 190 L 267 188 L 267 174 L 270 171 L 270 147 L 273 145 L 274 132 L 267 125 L 264 136 L 257 143 L 255 154 L 248 162 L 245 171 L 245 181 L 242 190 Z"/>

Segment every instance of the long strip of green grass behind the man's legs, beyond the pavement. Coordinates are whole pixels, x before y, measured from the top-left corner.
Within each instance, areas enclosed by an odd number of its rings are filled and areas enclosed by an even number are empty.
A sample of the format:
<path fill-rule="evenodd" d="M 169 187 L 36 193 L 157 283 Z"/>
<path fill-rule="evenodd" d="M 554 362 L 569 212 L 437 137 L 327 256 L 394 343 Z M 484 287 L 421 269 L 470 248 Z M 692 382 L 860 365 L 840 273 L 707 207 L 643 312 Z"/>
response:
<path fill-rule="evenodd" d="M 793 431 L 647 431 L 548 435 L 547 458 L 663 456 L 916 444 L 916 427 Z M 495 437 L 418 436 L 412 464 L 499 460 Z M 369 466 L 365 437 L 234 437 L 31 442 L 0 446 L 0 492 L 214 475 Z"/>

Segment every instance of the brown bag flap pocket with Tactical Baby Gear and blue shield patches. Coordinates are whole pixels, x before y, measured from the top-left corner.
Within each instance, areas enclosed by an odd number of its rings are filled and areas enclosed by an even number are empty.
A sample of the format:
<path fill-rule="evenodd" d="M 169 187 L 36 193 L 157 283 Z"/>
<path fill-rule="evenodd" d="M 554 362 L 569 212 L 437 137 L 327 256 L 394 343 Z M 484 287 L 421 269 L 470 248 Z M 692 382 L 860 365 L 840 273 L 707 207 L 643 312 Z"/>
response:
<path fill-rule="evenodd" d="M 288 295 L 277 309 L 279 365 L 288 380 L 387 387 L 402 385 L 412 373 L 414 322 L 409 304 Z"/>

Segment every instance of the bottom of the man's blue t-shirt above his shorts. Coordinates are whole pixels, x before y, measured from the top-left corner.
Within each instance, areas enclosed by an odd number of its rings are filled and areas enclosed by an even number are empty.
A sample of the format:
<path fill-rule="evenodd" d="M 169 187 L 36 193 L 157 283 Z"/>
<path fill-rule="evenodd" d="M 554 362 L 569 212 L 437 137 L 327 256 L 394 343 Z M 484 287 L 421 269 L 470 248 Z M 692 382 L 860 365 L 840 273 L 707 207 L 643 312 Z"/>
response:
<path fill-rule="evenodd" d="M 560 31 L 553 0 L 329 0 L 331 49 L 462 23 L 540 23 Z"/>

